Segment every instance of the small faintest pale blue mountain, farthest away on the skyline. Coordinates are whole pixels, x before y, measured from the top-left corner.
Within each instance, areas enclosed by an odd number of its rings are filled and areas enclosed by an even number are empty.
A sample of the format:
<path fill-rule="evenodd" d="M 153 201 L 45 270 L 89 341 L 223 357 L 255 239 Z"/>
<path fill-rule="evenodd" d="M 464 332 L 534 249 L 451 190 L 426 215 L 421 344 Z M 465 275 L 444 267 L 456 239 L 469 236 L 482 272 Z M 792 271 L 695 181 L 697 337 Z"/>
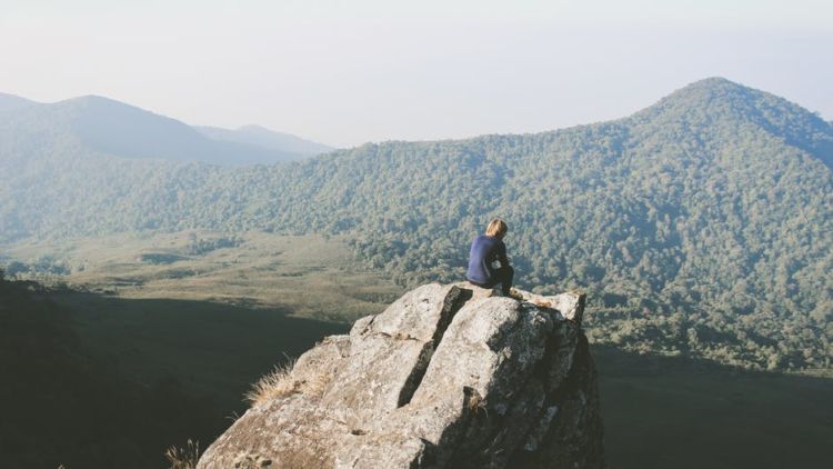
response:
<path fill-rule="evenodd" d="M 260 126 L 244 126 L 237 130 L 199 126 L 194 129 L 213 140 L 245 143 L 302 156 L 312 157 L 333 150 L 332 147 L 304 140 L 291 133 L 275 132 Z"/>

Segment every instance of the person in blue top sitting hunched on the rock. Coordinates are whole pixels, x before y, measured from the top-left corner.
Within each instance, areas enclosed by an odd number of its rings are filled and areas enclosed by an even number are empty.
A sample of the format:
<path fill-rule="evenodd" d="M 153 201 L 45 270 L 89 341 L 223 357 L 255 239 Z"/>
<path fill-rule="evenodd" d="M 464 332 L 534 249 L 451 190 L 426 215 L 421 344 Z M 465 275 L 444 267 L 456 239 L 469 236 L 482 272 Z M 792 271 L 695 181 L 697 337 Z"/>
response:
<path fill-rule="evenodd" d="M 465 278 L 482 288 L 494 288 L 502 286 L 504 297 L 510 296 L 512 279 L 515 271 L 509 265 L 506 257 L 506 245 L 503 238 L 506 236 L 509 227 L 500 218 L 489 222 L 485 234 L 480 234 L 471 243 L 469 252 L 469 271 Z M 494 261 L 500 262 L 499 268 L 494 268 Z"/>

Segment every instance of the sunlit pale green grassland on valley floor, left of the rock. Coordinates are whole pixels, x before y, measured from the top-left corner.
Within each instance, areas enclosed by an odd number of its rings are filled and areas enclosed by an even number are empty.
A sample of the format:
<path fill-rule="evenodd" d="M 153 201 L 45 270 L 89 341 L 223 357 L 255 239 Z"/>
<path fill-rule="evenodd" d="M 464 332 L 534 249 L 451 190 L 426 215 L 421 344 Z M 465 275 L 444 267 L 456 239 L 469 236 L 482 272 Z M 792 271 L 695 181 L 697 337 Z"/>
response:
<path fill-rule="evenodd" d="M 352 322 L 379 312 L 403 292 L 358 263 L 338 238 L 251 231 L 235 234 L 237 247 L 188 253 L 194 239 L 223 236 L 197 230 L 128 233 L 29 242 L 3 253 L 28 263 L 48 256 L 71 273 L 39 280 L 60 280 L 92 292 L 279 309 L 330 321 Z"/>

